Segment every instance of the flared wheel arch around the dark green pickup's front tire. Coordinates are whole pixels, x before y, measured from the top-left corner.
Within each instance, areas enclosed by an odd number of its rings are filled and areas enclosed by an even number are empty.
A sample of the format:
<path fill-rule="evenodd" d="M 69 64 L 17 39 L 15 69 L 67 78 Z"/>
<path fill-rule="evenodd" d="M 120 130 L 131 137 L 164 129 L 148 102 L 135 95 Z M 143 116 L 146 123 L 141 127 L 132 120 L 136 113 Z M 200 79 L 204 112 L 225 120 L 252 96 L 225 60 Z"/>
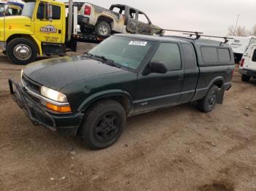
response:
<path fill-rule="evenodd" d="M 133 112 L 134 104 L 132 101 L 132 96 L 124 90 L 105 90 L 99 93 L 95 93 L 94 95 L 89 96 L 89 98 L 86 98 L 86 100 L 83 101 L 83 103 L 78 108 L 78 112 L 86 111 L 86 109 L 88 109 L 88 107 L 91 106 L 91 104 L 94 104 L 96 101 L 99 101 L 100 99 L 111 98 L 116 96 L 127 98 L 127 100 L 129 100 L 129 111 Z"/>

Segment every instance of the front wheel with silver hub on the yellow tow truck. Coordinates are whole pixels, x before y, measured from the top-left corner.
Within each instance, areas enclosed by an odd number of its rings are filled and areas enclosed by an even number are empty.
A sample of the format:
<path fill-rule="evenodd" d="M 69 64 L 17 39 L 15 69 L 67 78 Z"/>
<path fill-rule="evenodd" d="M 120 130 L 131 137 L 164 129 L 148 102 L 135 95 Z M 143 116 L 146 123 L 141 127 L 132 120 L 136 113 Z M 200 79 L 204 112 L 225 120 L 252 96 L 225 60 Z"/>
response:
<path fill-rule="evenodd" d="M 37 47 L 29 39 L 13 39 L 7 44 L 7 57 L 15 64 L 28 64 L 37 59 Z"/>

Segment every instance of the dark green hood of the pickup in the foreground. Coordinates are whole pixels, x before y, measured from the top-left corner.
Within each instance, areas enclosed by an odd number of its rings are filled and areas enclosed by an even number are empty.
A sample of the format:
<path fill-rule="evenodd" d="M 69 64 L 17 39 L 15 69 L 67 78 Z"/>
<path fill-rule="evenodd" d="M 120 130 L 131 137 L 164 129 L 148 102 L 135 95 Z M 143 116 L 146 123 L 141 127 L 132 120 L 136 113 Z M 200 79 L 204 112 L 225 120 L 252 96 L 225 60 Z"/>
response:
<path fill-rule="evenodd" d="M 83 56 L 51 58 L 31 63 L 23 69 L 23 74 L 40 85 L 54 90 L 82 79 L 123 71 Z"/>

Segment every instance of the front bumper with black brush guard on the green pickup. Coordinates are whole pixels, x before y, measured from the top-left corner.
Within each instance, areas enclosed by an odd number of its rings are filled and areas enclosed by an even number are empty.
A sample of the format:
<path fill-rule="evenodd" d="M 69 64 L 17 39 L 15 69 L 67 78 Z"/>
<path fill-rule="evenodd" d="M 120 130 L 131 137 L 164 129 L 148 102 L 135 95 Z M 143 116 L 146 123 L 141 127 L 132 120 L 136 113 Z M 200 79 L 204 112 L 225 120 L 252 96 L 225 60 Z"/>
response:
<path fill-rule="evenodd" d="M 34 125 L 42 125 L 64 136 L 76 135 L 80 122 L 83 120 L 83 114 L 52 114 L 34 101 L 31 95 L 26 93 L 25 87 L 13 82 L 12 79 L 9 79 L 9 86 L 12 99 L 20 109 L 23 109 Z"/>

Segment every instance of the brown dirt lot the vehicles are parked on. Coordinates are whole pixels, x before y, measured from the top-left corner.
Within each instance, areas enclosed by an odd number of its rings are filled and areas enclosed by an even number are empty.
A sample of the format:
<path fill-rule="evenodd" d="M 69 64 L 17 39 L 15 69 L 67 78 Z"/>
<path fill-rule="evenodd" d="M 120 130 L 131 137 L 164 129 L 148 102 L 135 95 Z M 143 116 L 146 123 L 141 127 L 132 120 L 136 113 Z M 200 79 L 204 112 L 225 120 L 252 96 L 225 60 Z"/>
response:
<path fill-rule="evenodd" d="M 8 93 L 20 69 L 0 54 L 0 190 L 256 190 L 256 80 L 236 71 L 209 114 L 185 104 L 131 117 L 96 152 L 31 124 Z"/>

